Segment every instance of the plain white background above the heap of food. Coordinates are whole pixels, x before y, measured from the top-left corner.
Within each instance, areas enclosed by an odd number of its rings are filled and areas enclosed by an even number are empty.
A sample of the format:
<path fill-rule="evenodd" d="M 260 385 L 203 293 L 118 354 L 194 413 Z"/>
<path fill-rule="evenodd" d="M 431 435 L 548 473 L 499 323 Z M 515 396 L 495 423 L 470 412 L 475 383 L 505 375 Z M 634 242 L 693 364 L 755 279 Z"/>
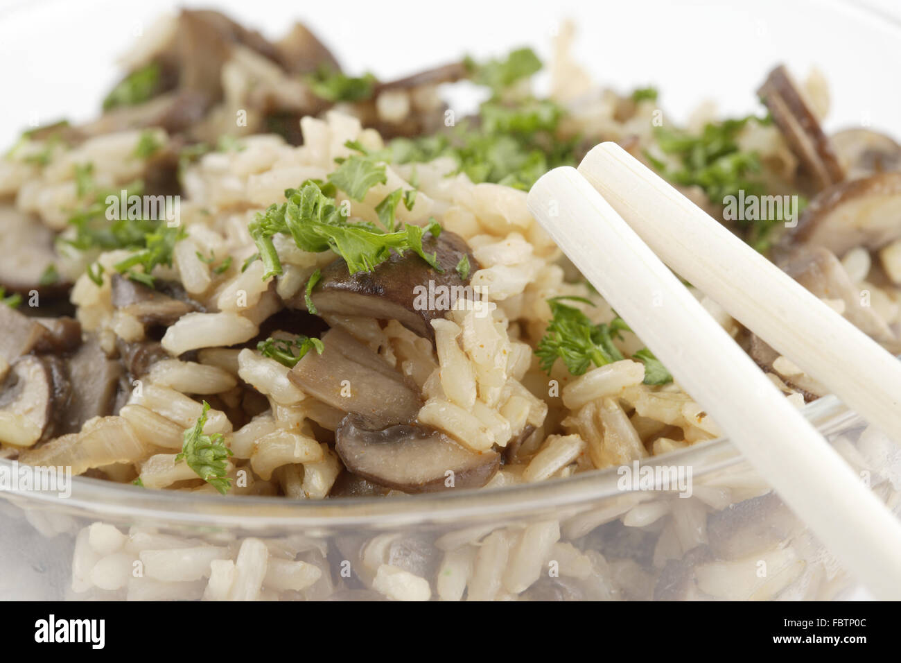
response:
<path fill-rule="evenodd" d="M 901 14 L 898 0 L 866 0 Z M 661 106 L 685 116 L 702 98 L 724 111 L 755 107 L 755 89 L 780 60 L 811 65 L 833 84 L 831 124 L 871 122 L 901 133 L 896 26 L 842 0 L 0 0 L 0 145 L 37 121 L 84 120 L 120 76 L 115 56 L 154 16 L 177 5 L 223 8 L 269 37 L 301 19 L 345 69 L 380 78 L 467 52 L 528 44 L 543 56 L 560 19 L 578 23 L 578 59 L 619 89 L 654 84 Z M 465 110 L 465 109 L 461 109 Z"/>

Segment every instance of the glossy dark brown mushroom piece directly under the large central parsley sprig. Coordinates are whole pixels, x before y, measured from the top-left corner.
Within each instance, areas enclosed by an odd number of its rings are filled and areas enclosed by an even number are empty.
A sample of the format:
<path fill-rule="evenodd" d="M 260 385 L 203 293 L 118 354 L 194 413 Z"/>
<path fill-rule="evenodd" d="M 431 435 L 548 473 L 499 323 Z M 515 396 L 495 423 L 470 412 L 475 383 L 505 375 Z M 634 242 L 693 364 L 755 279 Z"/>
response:
<path fill-rule="evenodd" d="M 432 299 L 436 301 L 441 292 L 452 298 L 465 297 L 464 286 L 469 278 L 460 278 L 457 265 L 466 256 L 472 274 L 478 270 L 478 262 L 463 238 L 448 231 L 437 239 L 427 235 L 423 249 L 437 253 L 443 272 L 432 269 L 412 251 L 392 254 L 372 272 L 350 274 L 343 260 L 332 262 L 323 269 L 322 279 L 313 291 L 314 306 L 320 314 L 397 320 L 419 336 L 433 339 L 432 320 L 444 318 L 452 302 L 449 299 L 447 307 L 430 307 L 427 293 L 434 290 Z"/>

